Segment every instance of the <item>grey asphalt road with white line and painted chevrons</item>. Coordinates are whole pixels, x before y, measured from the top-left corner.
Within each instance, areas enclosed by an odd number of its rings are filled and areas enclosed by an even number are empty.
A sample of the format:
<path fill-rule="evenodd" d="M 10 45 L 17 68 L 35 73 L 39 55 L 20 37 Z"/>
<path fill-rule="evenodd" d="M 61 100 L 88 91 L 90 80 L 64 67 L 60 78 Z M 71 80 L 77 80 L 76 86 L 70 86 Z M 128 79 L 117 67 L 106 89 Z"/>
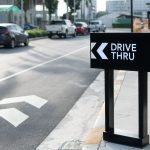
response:
<path fill-rule="evenodd" d="M 0 64 L 0 150 L 36 149 L 100 72 L 89 36 L 1 47 Z"/>

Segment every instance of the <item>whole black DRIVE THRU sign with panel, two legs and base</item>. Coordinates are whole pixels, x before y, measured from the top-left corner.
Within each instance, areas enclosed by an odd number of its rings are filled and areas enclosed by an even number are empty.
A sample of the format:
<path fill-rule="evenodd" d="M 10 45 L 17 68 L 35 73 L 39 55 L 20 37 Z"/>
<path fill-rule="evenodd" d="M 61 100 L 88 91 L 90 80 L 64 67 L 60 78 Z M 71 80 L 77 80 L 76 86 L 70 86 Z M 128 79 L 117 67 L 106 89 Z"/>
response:
<path fill-rule="evenodd" d="M 91 67 L 105 70 L 105 132 L 103 138 L 106 141 L 134 147 L 149 144 L 147 129 L 149 39 L 150 34 L 148 33 L 91 33 Z M 115 133 L 114 69 L 138 71 L 139 137 L 128 137 Z"/>

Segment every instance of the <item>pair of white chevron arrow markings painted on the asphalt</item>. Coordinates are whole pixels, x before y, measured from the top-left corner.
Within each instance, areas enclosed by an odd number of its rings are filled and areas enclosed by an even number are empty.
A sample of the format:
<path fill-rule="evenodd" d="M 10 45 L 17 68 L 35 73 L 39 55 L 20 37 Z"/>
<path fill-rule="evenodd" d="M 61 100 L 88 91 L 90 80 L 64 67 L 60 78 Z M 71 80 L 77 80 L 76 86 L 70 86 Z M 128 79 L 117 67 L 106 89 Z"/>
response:
<path fill-rule="evenodd" d="M 21 103 L 21 102 L 28 103 L 40 109 L 48 101 L 36 95 L 30 95 L 30 96 L 6 98 L 0 101 L 0 105 Z M 0 109 L 0 117 L 7 120 L 9 123 L 11 123 L 15 127 L 19 126 L 21 123 L 23 123 L 26 119 L 29 118 L 28 115 L 24 114 L 23 112 L 19 111 L 16 108 Z"/>

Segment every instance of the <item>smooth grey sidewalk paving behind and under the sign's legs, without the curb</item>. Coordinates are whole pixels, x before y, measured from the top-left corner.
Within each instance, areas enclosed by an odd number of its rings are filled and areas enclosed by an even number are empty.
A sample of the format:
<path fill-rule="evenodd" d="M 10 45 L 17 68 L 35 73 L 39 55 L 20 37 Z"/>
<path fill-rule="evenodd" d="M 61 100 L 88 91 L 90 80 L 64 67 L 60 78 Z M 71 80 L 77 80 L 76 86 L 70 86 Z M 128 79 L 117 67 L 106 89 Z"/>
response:
<path fill-rule="evenodd" d="M 149 74 L 150 77 L 150 74 Z M 150 81 L 148 81 L 150 87 Z M 148 88 L 150 93 L 150 88 Z M 148 96 L 148 100 L 150 96 Z M 148 104 L 148 110 L 150 105 Z M 148 113 L 149 114 L 149 113 Z M 102 121 L 102 120 L 99 120 Z M 123 135 L 138 137 L 138 73 L 126 72 L 121 90 L 115 103 L 115 128 L 122 131 Z M 148 115 L 148 133 L 150 133 L 150 115 Z M 119 144 L 102 141 L 99 150 L 140 150 Z M 143 148 L 150 150 L 150 145 Z"/>

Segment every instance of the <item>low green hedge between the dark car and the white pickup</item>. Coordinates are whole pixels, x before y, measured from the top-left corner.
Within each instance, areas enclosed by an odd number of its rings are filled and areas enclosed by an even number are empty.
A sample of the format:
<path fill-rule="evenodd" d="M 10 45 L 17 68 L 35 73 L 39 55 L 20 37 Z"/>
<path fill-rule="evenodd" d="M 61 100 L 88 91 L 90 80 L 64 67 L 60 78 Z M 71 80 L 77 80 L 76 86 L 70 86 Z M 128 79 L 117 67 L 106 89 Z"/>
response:
<path fill-rule="evenodd" d="M 27 30 L 26 32 L 29 34 L 29 38 L 47 36 L 47 31 L 43 29 L 31 29 Z"/>

